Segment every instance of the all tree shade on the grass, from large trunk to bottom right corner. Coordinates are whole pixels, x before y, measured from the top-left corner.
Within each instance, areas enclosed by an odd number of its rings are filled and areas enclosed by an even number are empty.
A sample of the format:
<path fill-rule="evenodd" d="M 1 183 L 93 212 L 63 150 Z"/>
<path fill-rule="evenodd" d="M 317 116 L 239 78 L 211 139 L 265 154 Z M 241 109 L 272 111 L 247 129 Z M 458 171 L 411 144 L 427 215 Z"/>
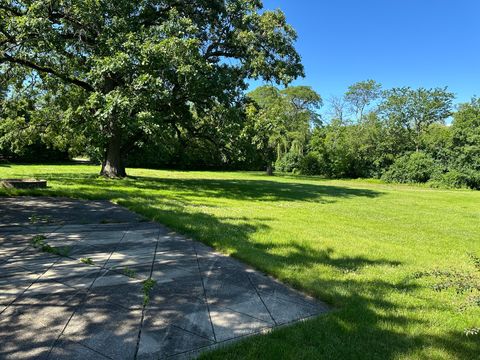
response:
<path fill-rule="evenodd" d="M 281 279 L 313 295 L 321 295 L 322 300 L 338 304 L 337 310 L 268 335 L 247 339 L 231 348 L 208 353 L 205 358 L 427 359 L 437 356 L 472 359 L 478 356 L 478 338 L 467 338 L 456 332 L 432 335 L 428 319 L 414 316 L 420 310 L 438 311 L 435 304 L 422 305 L 420 309 L 392 300 L 392 294 L 414 292 L 415 285 L 399 286 L 379 279 L 342 276 L 342 273 L 361 271 L 367 266 L 396 267 L 401 263 L 362 256 L 339 256 L 332 249 L 318 250 L 298 243 L 255 243 L 251 241 L 252 235 L 270 228 L 272 219 L 268 216 L 216 217 L 191 210 L 192 198 L 202 197 L 331 203 L 355 197 L 374 198 L 381 196 L 381 192 L 273 180 L 138 177 L 110 181 L 81 174 L 39 176 L 58 181 L 61 187 L 35 191 L 35 195 L 114 200 L 217 249 L 233 252 L 235 257 L 270 274 L 281 276 L 285 269 L 298 269 L 307 274 L 308 269 L 314 266 L 338 270 L 337 278 L 313 272 L 311 279 L 302 276 Z M 31 191 L 28 193 L 32 194 Z M 415 326 L 415 331 L 409 331 Z"/>

